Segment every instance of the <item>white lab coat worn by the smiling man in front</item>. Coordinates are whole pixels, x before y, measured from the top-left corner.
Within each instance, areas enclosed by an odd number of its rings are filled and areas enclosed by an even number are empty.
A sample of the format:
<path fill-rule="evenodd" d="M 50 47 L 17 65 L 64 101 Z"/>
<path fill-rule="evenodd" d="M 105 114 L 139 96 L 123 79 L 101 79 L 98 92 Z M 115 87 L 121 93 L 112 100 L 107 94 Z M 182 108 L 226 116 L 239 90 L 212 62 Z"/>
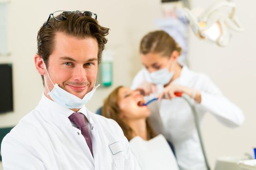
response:
<path fill-rule="evenodd" d="M 93 114 L 88 119 L 93 154 L 81 132 L 68 119 L 73 111 L 45 95 L 22 118 L 1 145 L 4 170 L 140 170 L 129 142 L 112 119 Z"/>

